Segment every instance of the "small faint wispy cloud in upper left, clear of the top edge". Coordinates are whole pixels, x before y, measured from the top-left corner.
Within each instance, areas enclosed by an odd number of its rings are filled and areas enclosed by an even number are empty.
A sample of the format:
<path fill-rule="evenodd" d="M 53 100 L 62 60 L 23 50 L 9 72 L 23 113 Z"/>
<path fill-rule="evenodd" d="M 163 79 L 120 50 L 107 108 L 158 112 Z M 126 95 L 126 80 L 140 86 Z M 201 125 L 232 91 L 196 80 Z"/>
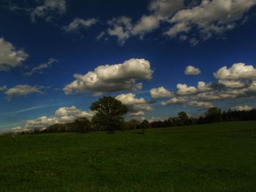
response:
<path fill-rule="evenodd" d="M 81 19 L 81 18 L 75 18 L 71 23 L 69 23 L 68 26 L 64 26 L 63 29 L 67 33 L 74 33 L 76 31 L 79 31 L 80 29 L 86 29 L 90 28 L 94 24 L 96 24 L 99 20 L 96 18 L 89 18 L 89 19 Z"/>

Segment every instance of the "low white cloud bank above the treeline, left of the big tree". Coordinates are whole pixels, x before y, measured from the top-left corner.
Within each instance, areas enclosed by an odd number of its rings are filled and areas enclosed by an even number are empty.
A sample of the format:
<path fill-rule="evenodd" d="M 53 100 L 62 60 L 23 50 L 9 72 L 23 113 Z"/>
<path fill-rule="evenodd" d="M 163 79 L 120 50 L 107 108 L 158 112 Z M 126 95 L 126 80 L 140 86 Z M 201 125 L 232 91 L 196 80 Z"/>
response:
<path fill-rule="evenodd" d="M 55 112 L 55 116 L 47 117 L 42 116 L 33 120 L 26 120 L 23 126 L 12 128 L 12 130 L 24 131 L 31 130 L 32 128 L 47 128 L 56 123 L 68 123 L 77 118 L 92 118 L 93 112 L 86 112 L 78 110 L 75 106 L 61 107 Z"/>

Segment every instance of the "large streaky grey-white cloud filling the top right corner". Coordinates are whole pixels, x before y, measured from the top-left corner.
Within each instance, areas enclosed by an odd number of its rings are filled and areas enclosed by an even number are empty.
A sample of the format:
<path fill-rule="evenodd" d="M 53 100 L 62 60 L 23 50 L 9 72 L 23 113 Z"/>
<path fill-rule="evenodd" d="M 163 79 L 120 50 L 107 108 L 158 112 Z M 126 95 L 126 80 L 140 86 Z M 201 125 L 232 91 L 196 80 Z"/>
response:
<path fill-rule="evenodd" d="M 223 34 L 235 28 L 237 22 L 243 20 L 245 13 L 255 4 L 255 0 L 203 0 L 198 6 L 176 12 L 170 18 L 173 26 L 165 34 L 176 37 L 199 31 L 200 39 L 208 39 L 213 34 Z M 195 27 L 197 30 L 192 31 Z"/>

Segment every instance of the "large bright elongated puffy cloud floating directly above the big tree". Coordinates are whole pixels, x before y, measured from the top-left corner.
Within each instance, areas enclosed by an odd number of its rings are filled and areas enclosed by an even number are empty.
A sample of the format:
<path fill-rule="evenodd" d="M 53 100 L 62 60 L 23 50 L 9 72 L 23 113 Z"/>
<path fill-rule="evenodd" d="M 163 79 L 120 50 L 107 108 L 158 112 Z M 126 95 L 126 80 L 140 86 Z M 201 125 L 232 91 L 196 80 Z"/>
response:
<path fill-rule="evenodd" d="M 136 80 L 150 80 L 152 73 L 149 61 L 131 58 L 123 64 L 98 66 L 94 72 L 75 74 L 76 80 L 66 85 L 63 90 L 66 94 L 94 95 L 113 91 L 134 91 L 142 88 L 142 82 L 137 83 Z"/>

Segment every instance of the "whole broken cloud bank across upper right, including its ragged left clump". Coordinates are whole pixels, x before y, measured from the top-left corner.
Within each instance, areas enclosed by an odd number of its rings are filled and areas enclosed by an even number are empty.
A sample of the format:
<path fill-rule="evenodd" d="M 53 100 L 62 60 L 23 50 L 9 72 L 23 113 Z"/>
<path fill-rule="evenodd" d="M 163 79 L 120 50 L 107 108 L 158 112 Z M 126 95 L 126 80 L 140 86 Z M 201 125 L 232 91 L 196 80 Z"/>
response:
<path fill-rule="evenodd" d="M 124 45 L 130 37 L 139 35 L 143 39 L 165 23 L 169 28 L 163 34 L 196 45 L 200 40 L 232 30 L 238 22 L 245 23 L 246 12 L 255 4 L 255 0 L 154 0 L 148 5 L 149 13 L 135 23 L 125 16 L 109 20 L 108 34 Z"/>

